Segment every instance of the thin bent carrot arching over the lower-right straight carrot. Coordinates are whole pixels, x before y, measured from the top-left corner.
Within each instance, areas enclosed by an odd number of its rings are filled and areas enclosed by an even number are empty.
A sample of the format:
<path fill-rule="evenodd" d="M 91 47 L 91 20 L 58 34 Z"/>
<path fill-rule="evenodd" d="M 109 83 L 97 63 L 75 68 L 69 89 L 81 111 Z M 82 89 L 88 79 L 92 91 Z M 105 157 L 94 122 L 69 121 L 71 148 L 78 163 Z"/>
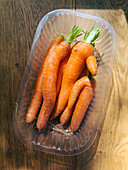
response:
<path fill-rule="evenodd" d="M 76 83 L 74 84 L 74 86 L 71 90 L 70 96 L 69 96 L 69 100 L 68 100 L 68 109 L 69 110 L 73 107 L 80 91 L 83 89 L 84 86 L 88 86 L 88 87 L 92 86 L 91 80 L 87 76 L 84 76 L 81 79 L 77 80 Z"/>

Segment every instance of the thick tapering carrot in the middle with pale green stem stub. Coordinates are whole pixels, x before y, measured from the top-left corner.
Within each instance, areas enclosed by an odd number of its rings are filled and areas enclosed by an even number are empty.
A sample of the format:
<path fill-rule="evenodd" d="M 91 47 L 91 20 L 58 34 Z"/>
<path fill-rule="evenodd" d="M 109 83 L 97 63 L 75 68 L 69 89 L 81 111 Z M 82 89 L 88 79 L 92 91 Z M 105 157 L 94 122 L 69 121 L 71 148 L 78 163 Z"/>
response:
<path fill-rule="evenodd" d="M 71 51 L 70 58 L 65 68 L 61 90 L 57 98 L 51 119 L 56 118 L 66 107 L 70 91 L 79 77 L 86 59 L 93 55 L 93 41 L 99 36 L 99 29 L 92 29 L 86 33 L 82 42 L 77 43 Z"/>

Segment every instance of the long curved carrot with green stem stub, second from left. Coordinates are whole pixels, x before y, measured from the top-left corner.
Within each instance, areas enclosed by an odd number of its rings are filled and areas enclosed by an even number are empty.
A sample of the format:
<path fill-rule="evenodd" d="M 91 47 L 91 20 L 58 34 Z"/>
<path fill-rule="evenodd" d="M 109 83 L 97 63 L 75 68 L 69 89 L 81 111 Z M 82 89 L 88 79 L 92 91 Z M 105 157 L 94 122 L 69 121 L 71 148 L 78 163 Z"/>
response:
<path fill-rule="evenodd" d="M 56 81 L 60 62 L 70 51 L 70 43 L 79 36 L 81 28 L 74 27 L 67 37 L 51 51 L 45 61 L 43 69 L 43 97 L 44 103 L 37 119 L 37 128 L 43 129 L 50 117 L 56 100 Z"/>

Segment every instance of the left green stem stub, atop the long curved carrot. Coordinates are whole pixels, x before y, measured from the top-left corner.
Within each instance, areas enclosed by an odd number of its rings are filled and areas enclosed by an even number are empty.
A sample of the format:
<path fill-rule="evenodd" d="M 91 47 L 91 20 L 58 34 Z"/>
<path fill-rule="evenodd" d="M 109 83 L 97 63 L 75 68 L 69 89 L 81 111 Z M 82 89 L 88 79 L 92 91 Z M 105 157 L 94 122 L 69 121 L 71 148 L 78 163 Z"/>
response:
<path fill-rule="evenodd" d="M 72 31 L 69 33 L 66 42 L 68 42 L 69 44 L 71 44 L 71 42 L 77 38 L 78 36 L 82 35 L 80 34 L 80 32 L 82 31 L 81 28 L 79 28 L 78 26 L 74 26 Z"/>

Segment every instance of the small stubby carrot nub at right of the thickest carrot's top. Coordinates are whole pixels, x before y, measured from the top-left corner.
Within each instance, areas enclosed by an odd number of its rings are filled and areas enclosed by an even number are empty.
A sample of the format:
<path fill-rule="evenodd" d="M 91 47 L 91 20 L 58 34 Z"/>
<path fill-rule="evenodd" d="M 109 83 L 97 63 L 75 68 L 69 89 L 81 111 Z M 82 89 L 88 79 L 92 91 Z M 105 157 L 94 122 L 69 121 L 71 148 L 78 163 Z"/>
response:
<path fill-rule="evenodd" d="M 97 61 L 95 56 L 89 56 L 86 60 L 87 68 L 95 76 L 97 73 Z"/>

